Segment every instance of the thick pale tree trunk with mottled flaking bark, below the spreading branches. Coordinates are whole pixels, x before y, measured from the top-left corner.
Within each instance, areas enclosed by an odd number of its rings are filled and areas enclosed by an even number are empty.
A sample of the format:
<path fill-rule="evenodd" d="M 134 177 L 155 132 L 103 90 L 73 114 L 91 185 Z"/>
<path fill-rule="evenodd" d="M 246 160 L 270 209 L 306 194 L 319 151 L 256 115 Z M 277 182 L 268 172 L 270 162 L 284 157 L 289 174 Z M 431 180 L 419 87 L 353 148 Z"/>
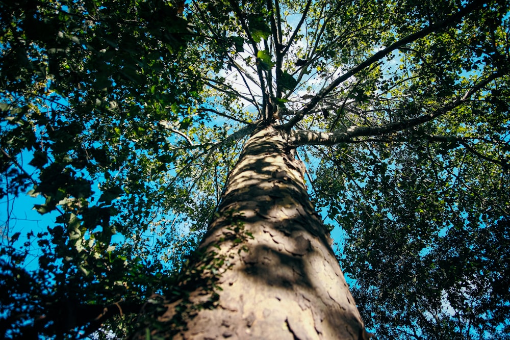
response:
<path fill-rule="evenodd" d="M 182 296 L 142 337 L 368 338 L 303 172 L 278 130 L 247 141 Z"/>

